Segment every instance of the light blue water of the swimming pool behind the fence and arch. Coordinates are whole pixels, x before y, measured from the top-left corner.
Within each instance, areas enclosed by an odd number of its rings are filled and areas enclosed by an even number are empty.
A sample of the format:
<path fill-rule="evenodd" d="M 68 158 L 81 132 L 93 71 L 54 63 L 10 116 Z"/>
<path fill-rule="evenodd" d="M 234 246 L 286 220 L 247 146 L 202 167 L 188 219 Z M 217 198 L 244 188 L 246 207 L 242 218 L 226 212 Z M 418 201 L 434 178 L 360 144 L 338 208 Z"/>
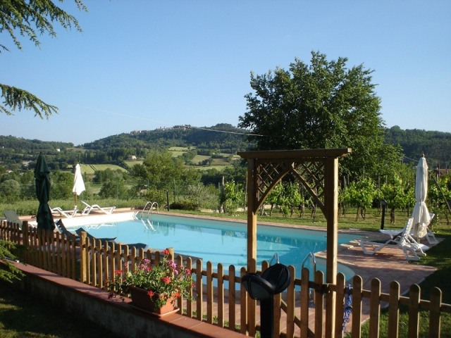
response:
<path fill-rule="evenodd" d="M 224 268 L 235 265 L 237 271 L 247 265 L 247 225 L 224 220 L 179 217 L 151 214 L 146 220 L 129 220 L 118 223 L 84 225 L 95 237 L 117 237 L 123 243 L 146 243 L 155 249 L 173 247 L 176 253 L 211 261 L 216 268 L 223 263 Z M 358 238 L 355 234 L 339 234 L 338 244 Z M 257 263 L 270 261 L 278 253 L 280 263 L 293 265 L 300 273 L 302 261 L 309 252 L 326 250 L 326 232 L 303 230 L 292 227 L 257 227 Z M 307 268 L 311 268 L 307 261 Z M 325 271 L 325 263 L 316 259 L 316 269 Z M 354 273 L 345 265 L 338 271 L 348 278 Z"/>

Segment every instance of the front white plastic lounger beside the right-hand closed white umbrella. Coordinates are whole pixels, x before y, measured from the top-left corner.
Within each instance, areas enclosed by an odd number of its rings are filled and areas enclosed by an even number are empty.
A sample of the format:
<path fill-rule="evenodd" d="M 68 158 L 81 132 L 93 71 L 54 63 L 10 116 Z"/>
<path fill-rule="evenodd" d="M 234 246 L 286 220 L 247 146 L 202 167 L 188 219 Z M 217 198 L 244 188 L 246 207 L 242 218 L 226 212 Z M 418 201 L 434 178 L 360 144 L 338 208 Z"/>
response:
<path fill-rule="evenodd" d="M 366 255 L 373 255 L 374 253 L 381 251 L 385 246 L 395 246 L 404 251 L 407 261 L 419 261 L 420 256 L 426 256 L 424 249 L 428 248 L 428 246 L 418 244 L 410 235 L 412 223 L 413 218 L 409 218 L 404 229 L 402 229 L 402 232 L 395 237 L 390 237 L 386 242 L 379 243 L 359 240 L 360 246 L 362 246 L 362 250 Z"/>

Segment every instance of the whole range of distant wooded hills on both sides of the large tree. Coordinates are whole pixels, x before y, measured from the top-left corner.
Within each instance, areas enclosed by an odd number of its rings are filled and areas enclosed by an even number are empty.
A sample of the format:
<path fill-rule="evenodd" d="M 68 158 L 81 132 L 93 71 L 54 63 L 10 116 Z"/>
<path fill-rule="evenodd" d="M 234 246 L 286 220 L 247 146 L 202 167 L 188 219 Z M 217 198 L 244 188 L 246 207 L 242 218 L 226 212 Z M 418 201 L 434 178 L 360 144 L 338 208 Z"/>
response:
<path fill-rule="evenodd" d="M 42 153 L 51 170 L 71 168 L 78 162 L 109 163 L 127 168 L 125 161 L 130 158 L 144 158 L 151 149 L 177 146 L 195 149 L 187 151 L 184 160 L 197 163 L 199 156 L 214 158 L 221 154 L 218 157 L 224 158 L 227 154 L 231 156 L 237 151 L 252 149 L 253 144 L 246 141 L 245 133 L 245 130 L 229 124 L 203 128 L 175 126 L 112 135 L 77 147 L 71 143 L 0 136 L 0 165 L 7 169 L 20 169 L 30 161 L 28 168 L 33 168 L 37 156 Z M 431 168 L 438 165 L 440 168 L 450 167 L 451 133 L 402 130 L 395 126 L 386 129 L 385 140 L 389 144 L 400 144 L 406 158 L 417 161 L 421 154 L 425 154 Z"/>

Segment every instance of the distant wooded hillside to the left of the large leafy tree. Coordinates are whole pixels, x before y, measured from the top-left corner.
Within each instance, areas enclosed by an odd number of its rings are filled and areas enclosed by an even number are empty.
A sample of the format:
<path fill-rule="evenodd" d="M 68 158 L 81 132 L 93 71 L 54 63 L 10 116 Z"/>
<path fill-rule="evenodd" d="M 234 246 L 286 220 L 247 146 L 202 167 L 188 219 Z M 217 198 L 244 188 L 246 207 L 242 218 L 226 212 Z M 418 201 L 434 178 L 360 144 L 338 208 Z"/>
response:
<path fill-rule="evenodd" d="M 135 130 L 98 139 L 74 147 L 63 142 L 42 142 L 18 137 L 0 137 L 0 165 L 18 170 L 22 165 L 33 168 L 39 153 L 45 155 L 51 170 L 71 168 L 75 163 L 117 164 L 127 167 L 129 158 L 145 158 L 152 149 L 180 146 L 195 149 L 196 154 L 186 154 L 185 161 L 195 155 L 226 156 L 249 150 L 252 144 L 245 139 L 246 131 L 229 124 L 213 127 L 175 126 L 158 130 Z M 191 157 L 190 157 L 191 156 Z"/>

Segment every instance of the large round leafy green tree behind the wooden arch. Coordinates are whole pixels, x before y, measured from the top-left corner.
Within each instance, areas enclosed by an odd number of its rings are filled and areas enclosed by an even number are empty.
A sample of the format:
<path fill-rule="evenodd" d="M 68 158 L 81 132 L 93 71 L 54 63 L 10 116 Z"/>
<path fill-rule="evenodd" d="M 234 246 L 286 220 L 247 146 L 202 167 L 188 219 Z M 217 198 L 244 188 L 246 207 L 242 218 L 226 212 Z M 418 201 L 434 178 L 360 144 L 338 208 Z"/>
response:
<path fill-rule="evenodd" d="M 384 144 L 381 100 L 371 82 L 373 70 L 347 67 L 347 58 L 328 61 L 311 53 L 311 64 L 295 59 L 289 70 L 251 74 L 254 92 L 239 127 L 260 150 L 352 148 L 342 168 L 354 177 L 380 173 L 400 158 Z M 381 168 L 381 165 L 384 168 Z"/>

